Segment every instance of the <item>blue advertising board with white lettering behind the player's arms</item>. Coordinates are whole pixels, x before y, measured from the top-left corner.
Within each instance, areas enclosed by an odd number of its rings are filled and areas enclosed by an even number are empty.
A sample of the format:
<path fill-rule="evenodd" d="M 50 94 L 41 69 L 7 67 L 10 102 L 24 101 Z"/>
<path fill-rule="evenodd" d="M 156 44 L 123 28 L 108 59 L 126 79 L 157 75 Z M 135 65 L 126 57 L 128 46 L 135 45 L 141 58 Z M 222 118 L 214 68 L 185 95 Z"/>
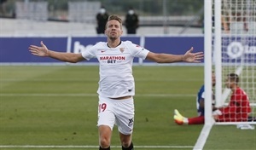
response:
<path fill-rule="evenodd" d="M 122 41 L 129 40 L 154 53 L 167 53 L 183 55 L 191 47 L 193 52 L 204 51 L 203 36 L 195 37 L 122 37 Z M 107 42 L 106 37 L 0 37 L 0 63 L 55 63 L 61 62 L 51 58 L 42 58 L 31 55 L 28 47 L 31 44 L 40 46 L 44 41 L 48 49 L 59 52 L 80 53 L 89 49 L 90 46 L 102 41 Z M 256 37 L 224 37 L 222 38 L 223 62 L 240 62 L 241 58 L 245 63 L 256 64 Z M 207 50 L 207 49 L 206 49 Z M 214 54 L 214 53 L 213 53 Z M 98 62 L 92 59 L 86 63 Z M 135 58 L 134 62 L 138 62 Z M 150 61 L 143 61 L 147 63 Z"/>

